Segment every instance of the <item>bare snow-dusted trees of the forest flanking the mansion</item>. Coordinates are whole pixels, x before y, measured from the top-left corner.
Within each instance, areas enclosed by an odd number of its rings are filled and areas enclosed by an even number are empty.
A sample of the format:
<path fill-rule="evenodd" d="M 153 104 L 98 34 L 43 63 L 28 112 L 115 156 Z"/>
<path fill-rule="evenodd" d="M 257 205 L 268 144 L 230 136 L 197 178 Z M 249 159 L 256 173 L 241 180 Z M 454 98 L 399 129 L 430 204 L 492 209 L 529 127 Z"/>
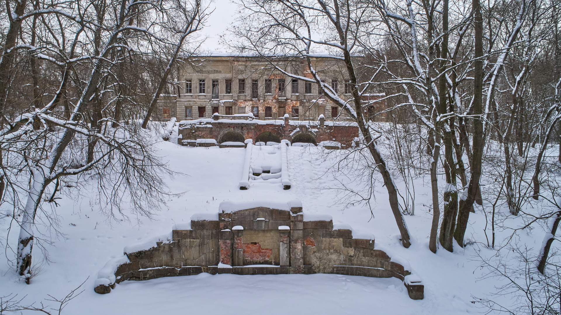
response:
<path fill-rule="evenodd" d="M 5 4 L 0 9 L 0 202 L 13 205 L 21 230 L 17 272 L 29 281 L 34 242 L 42 242 L 35 234 L 36 218 L 56 220 L 51 204 L 81 180 L 97 181 L 100 204 L 110 217 L 122 211 L 123 196 L 134 216 L 150 217 L 162 202 L 167 190 L 158 173 L 169 170 L 153 154 L 143 129 L 159 96 L 173 94 L 166 90 L 170 73 L 180 55 L 196 52 L 200 43 L 190 36 L 208 12 L 198 0 Z M 411 245 L 404 216 L 415 205 L 403 204 L 415 193 L 399 192 L 401 181 L 394 178 L 427 174 L 430 251 L 452 252 L 454 242 L 459 247 L 472 242 L 466 228 L 477 209 L 488 217 L 484 245 L 498 252 L 509 248 L 508 240 L 495 239 L 495 229 L 504 228 L 505 217 L 497 210 L 504 205 L 510 216 L 522 217 L 512 235 L 545 229 L 540 254 L 531 263 L 547 279 L 559 275 L 558 256 L 550 252 L 556 252 L 561 220 L 561 2 L 240 4 L 236 39 L 228 45 L 267 58 L 272 66 L 275 56 L 307 62 L 311 77 L 278 71 L 318 85 L 358 124 L 360 150 L 383 178 L 404 247 Z M 344 63 L 350 100 L 322 81 L 312 65 L 315 55 Z M 370 92 L 386 96 L 363 103 L 361 96 Z M 380 113 L 369 112 L 377 102 L 390 104 L 383 109 L 390 117 L 386 126 L 373 119 Z M 388 158 L 388 147 L 413 151 Z M 442 178 L 445 183 L 439 183 Z"/>

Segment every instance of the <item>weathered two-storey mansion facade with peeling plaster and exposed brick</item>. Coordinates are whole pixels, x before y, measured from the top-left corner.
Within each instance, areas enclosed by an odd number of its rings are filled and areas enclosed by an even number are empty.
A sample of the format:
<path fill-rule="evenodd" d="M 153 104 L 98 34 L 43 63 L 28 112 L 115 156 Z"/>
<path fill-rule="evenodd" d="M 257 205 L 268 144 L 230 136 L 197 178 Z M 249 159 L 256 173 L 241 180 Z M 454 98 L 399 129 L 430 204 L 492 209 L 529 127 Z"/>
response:
<path fill-rule="evenodd" d="M 311 78 L 302 58 L 278 58 L 275 66 L 292 75 Z M 350 117 L 323 95 L 315 82 L 298 80 L 273 67 L 265 58 L 233 55 L 193 57 L 178 71 L 177 99 L 160 103 L 163 119 L 178 121 L 220 115 L 254 114 L 261 121 L 282 119 L 349 121 Z M 344 64 L 327 57 L 312 58 L 312 67 L 323 81 L 344 100 L 351 98 L 351 86 Z M 365 103 L 383 94 L 363 96 Z M 385 106 L 379 102 L 373 106 Z"/>

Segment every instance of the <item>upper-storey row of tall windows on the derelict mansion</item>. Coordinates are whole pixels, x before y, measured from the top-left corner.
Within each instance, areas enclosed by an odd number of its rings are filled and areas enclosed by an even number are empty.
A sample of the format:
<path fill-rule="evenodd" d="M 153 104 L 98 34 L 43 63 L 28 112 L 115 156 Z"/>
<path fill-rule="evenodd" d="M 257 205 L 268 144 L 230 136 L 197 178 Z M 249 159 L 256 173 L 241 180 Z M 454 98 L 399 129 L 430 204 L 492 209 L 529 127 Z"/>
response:
<path fill-rule="evenodd" d="M 292 94 L 297 94 L 299 92 L 299 81 L 297 79 L 292 79 L 291 88 Z M 321 80 L 325 83 L 325 80 Z M 224 94 L 232 94 L 232 80 L 226 80 L 226 89 Z M 279 98 L 284 98 L 286 81 L 284 79 L 278 79 L 278 96 Z M 218 80 L 212 80 L 212 90 L 211 94 L 213 99 L 218 98 Z M 339 92 L 339 81 L 337 79 L 331 80 L 331 88 L 335 93 Z M 345 94 L 351 93 L 351 83 L 347 80 L 344 83 Z M 259 95 L 259 80 L 251 80 L 251 98 L 256 99 Z M 185 94 L 193 94 L 193 82 L 191 79 L 185 80 Z M 199 94 L 206 94 L 206 80 L 199 79 Z M 246 94 L 246 79 L 238 79 L 238 94 Z M 273 80 L 265 80 L 265 94 L 273 94 Z M 304 94 L 312 94 L 312 82 L 304 82 Z M 323 90 L 318 89 L 318 94 L 322 95 Z"/>

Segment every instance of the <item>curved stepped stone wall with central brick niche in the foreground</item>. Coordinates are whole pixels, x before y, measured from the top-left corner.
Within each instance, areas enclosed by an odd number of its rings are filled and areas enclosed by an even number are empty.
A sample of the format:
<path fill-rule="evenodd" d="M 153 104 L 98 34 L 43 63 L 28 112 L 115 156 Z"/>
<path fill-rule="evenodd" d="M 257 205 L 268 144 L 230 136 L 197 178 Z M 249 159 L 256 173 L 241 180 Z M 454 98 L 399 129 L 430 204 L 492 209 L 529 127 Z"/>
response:
<path fill-rule="evenodd" d="M 304 221 L 301 211 L 301 207 L 290 211 L 256 207 L 219 214 L 216 221 L 192 220 L 191 230 L 173 230 L 169 243 L 125 253 L 130 262 L 116 268 L 115 282 L 200 272 L 325 273 L 396 277 L 404 280 L 412 299 L 422 299 L 420 280 L 374 249 L 373 239 L 355 239 L 348 229 L 333 230 L 332 220 Z M 245 267 L 249 265 L 264 267 Z M 113 285 L 99 284 L 95 290 L 109 293 Z"/>

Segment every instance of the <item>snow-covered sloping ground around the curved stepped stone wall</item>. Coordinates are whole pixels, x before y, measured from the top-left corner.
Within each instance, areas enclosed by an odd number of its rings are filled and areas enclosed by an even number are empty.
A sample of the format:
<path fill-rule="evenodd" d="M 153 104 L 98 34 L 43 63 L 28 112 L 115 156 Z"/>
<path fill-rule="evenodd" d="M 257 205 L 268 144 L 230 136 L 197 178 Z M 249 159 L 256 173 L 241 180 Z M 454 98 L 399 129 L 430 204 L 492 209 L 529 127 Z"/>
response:
<path fill-rule="evenodd" d="M 175 131 L 177 136 L 177 129 Z M 170 141 L 176 141 L 172 137 Z M 8 239 L 7 258 L 0 258 L 0 296 L 17 294 L 32 302 L 49 303 L 48 294 L 62 298 L 86 279 L 85 291 L 73 299 L 62 314 L 159 314 L 189 312 L 202 314 L 464 314 L 484 312 L 475 298 L 485 298 L 498 285 L 494 279 L 480 279 L 486 273 L 478 268 L 476 253 L 490 256 L 493 252 L 474 243 L 466 249 L 454 247 L 454 253 L 439 249 L 429 251 L 429 233 L 432 214 L 429 212 L 430 184 L 419 180 L 416 187 L 414 216 L 406 216 L 412 235 L 410 248 L 399 242 L 399 231 L 388 204 L 385 188 L 378 182 L 376 199 L 371 210 L 364 205 L 344 207 L 342 194 L 334 189 L 339 181 L 352 186 L 360 180 L 344 177 L 344 168 L 334 173 L 330 166 L 338 161 L 343 150 L 328 151 L 321 147 L 289 147 L 288 164 L 292 188 L 283 190 L 280 179 L 252 179 L 247 190 L 240 190 L 245 149 L 192 148 L 172 142 L 157 146 L 171 169 L 180 172 L 168 185 L 180 195 L 169 198 L 154 220 L 131 216 L 130 220 L 110 221 L 98 211 L 88 198 L 65 197 L 56 211 L 62 220 L 59 231 L 63 237 L 45 245 L 50 262 L 40 262 L 39 247 L 34 248 L 36 275 L 30 285 L 19 280 L 13 268 L 12 250 L 16 248 L 17 226 L 12 226 Z M 254 150 L 273 150 L 271 147 Z M 329 154 L 327 154 L 329 152 Z M 267 152 L 263 152 L 264 154 Z M 263 155 L 278 164 L 276 156 Z M 366 177 L 368 174 L 364 174 Z M 442 180 L 440 183 L 444 185 Z M 87 189 L 86 189 L 87 190 Z M 78 196 L 76 194 L 75 196 Z M 167 277 L 148 281 L 125 281 L 111 294 L 94 293 L 98 271 L 111 258 L 121 256 L 127 245 L 142 243 L 158 235 L 167 234 L 173 224 L 187 223 L 192 214 L 215 213 L 222 201 L 271 200 L 302 201 L 308 214 L 329 214 L 334 224 L 349 224 L 353 233 L 371 233 L 376 236 L 378 248 L 390 256 L 399 255 L 408 260 L 411 268 L 425 285 L 425 299 L 411 300 L 401 281 L 339 275 L 209 275 Z M 3 233 L 10 224 L 1 219 Z M 470 215 L 466 238 L 485 242 L 482 230 L 485 217 L 481 211 Z M 538 231 L 541 233 L 541 231 Z M 46 235 L 45 237 L 50 237 Z M 526 235 L 528 240 L 538 239 Z M 530 241 L 531 242 L 531 241 Z M 4 245 L 4 244 L 3 244 Z M 456 244 L 454 244 L 456 245 Z M 539 245 L 539 244 L 536 244 Z"/>

